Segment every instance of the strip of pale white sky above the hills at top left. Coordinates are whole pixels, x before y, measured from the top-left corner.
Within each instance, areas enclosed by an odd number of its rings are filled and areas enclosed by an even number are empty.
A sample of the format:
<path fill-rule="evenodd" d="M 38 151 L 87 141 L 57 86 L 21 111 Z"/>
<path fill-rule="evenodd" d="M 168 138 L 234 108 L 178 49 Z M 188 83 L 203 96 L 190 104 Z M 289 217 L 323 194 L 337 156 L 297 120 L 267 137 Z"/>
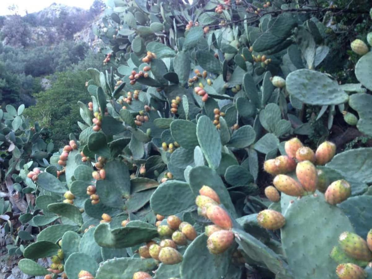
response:
<path fill-rule="evenodd" d="M 27 10 L 28 13 L 38 12 L 49 7 L 52 3 L 89 9 L 93 1 L 94 0 L 0 0 L 0 15 L 12 14 L 12 12 L 8 10 L 8 7 L 12 4 L 18 6 L 18 13 L 23 16 L 25 15 L 25 10 Z"/>

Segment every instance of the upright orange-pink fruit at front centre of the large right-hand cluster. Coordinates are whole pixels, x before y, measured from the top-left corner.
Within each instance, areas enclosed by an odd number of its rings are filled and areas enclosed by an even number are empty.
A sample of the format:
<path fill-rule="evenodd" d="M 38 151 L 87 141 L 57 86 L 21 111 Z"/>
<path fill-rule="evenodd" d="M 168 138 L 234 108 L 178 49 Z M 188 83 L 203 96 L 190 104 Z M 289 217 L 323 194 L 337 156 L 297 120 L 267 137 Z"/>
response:
<path fill-rule="evenodd" d="M 299 162 L 296 166 L 296 176 L 307 192 L 315 192 L 318 183 L 318 173 L 310 161 Z"/>

